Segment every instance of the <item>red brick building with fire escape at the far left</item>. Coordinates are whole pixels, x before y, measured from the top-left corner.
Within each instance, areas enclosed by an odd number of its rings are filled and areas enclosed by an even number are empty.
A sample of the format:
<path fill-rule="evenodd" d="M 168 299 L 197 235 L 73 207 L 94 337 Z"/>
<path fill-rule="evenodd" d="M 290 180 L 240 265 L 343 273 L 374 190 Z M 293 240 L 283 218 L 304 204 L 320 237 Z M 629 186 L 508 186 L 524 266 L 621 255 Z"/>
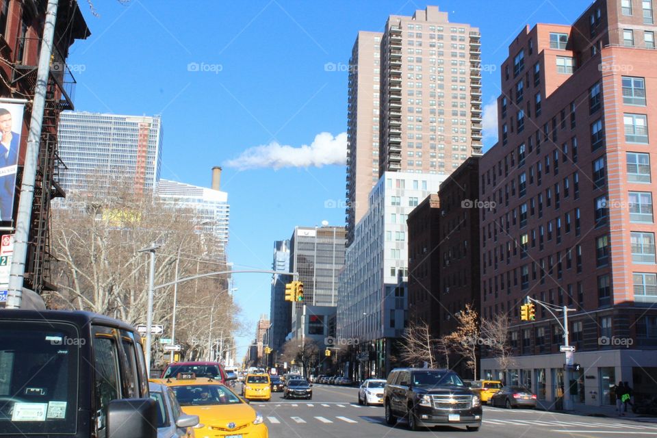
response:
<path fill-rule="evenodd" d="M 31 116 L 31 100 L 46 16 L 45 0 L 0 0 L 0 97 L 27 99 L 21 130 L 14 220 L 3 222 L 3 233 L 16 227 L 15 214 L 23 176 L 23 163 Z M 59 2 L 55 25 L 55 44 L 51 55 L 51 71 L 47 83 L 47 101 L 39 149 L 34 203 L 25 267 L 25 287 L 38 293 L 51 290 L 49 283 L 49 217 L 51 198 L 64 196 L 57 184 L 57 123 L 62 110 L 73 110 L 75 78 L 66 65 L 68 49 L 77 39 L 90 36 L 90 31 L 76 0 Z M 9 231 L 8 231 L 9 230 Z"/>

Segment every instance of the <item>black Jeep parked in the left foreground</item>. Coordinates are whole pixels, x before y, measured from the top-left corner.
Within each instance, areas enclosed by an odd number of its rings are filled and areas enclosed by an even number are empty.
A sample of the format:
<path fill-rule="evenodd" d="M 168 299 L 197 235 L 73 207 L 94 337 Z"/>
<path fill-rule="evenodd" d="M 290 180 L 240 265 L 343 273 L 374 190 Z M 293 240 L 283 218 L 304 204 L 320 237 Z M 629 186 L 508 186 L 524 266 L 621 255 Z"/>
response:
<path fill-rule="evenodd" d="M 2 309 L 0 357 L 3 394 L 12 395 L 1 403 L 0 435 L 157 437 L 142 338 L 129 324 L 83 311 Z"/>

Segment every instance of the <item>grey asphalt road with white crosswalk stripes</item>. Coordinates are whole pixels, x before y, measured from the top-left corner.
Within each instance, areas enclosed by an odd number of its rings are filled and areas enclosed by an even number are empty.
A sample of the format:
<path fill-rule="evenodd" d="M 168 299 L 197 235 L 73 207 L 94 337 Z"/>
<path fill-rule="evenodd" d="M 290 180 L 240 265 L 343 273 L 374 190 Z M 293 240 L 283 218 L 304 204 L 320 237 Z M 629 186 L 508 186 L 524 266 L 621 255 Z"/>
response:
<path fill-rule="evenodd" d="M 241 389 L 239 386 L 237 389 Z M 312 400 L 285 400 L 272 394 L 270 402 L 251 402 L 265 418 L 271 438 L 329 437 L 486 437 L 486 438 L 629 438 L 657 437 L 657 424 L 604 417 L 585 417 L 532 409 L 484 407 L 478 432 L 465 427 L 439 426 L 419 432 L 400 420 L 385 424 L 383 407 L 357 403 L 357 388 L 313 385 Z"/>

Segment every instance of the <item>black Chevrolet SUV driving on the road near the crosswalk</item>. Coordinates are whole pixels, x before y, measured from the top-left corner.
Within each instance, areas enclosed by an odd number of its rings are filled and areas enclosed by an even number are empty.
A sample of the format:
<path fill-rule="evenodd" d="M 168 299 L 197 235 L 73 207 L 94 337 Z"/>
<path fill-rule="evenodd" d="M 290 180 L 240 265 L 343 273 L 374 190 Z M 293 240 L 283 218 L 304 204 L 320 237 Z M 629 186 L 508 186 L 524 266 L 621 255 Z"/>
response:
<path fill-rule="evenodd" d="M 397 368 L 390 372 L 383 392 L 385 422 L 405 418 L 411 430 L 437 424 L 481 426 L 481 400 L 450 370 Z"/>

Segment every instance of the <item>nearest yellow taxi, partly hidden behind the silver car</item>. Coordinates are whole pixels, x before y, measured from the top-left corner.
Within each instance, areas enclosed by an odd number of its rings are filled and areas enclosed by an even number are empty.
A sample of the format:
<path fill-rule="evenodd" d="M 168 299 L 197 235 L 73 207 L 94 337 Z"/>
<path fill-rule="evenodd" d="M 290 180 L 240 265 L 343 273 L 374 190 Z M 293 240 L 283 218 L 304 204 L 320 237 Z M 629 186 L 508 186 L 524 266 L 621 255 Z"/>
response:
<path fill-rule="evenodd" d="M 152 379 L 170 387 L 183 412 L 198 415 L 198 438 L 268 438 L 262 415 L 213 378 L 180 373 L 176 378 Z"/>

